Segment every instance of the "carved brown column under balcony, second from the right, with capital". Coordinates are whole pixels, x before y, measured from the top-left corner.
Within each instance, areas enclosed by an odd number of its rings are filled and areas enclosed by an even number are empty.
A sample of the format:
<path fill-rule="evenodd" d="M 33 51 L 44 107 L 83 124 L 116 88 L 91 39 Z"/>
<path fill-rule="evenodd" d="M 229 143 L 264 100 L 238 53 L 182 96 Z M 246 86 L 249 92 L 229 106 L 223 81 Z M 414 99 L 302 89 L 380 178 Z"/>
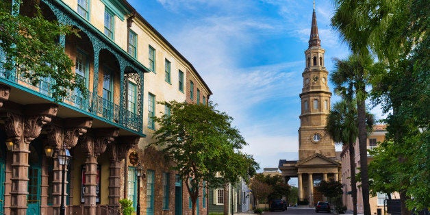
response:
<path fill-rule="evenodd" d="M 84 214 L 96 214 L 97 157 L 105 152 L 110 142 L 114 141 L 119 130 L 112 128 L 94 129 L 93 133 L 86 135 L 81 142 L 81 147 L 86 152 Z"/>

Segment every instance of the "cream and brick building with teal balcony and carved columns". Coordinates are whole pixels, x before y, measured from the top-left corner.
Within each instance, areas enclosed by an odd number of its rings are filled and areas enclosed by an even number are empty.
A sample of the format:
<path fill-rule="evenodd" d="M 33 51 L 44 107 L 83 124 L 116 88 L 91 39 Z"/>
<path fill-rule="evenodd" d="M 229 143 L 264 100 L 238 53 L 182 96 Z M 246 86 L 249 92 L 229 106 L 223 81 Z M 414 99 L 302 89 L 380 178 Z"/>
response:
<path fill-rule="evenodd" d="M 135 210 L 140 203 L 140 214 L 191 214 L 185 186 L 147 145 L 158 126 L 151 117 L 169 112 L 157 102 L 190 101 L 193 93 L 192 101 L 207 103 L 205 81 L 127 1 L 41 0 L 40 8 L 78 30 L 59 45 L 88 97 L 70 90 L 54 101 L 49 78 L 33 86 L 0 67 L 0 213 L 59 214 L 64 194 L 66 214 L 118 214 L 120 199 L 134 201 Z M 58 162 L 65 150 L 68 166 Z M 138 164 L 146 177 L 136 176 Z"/>

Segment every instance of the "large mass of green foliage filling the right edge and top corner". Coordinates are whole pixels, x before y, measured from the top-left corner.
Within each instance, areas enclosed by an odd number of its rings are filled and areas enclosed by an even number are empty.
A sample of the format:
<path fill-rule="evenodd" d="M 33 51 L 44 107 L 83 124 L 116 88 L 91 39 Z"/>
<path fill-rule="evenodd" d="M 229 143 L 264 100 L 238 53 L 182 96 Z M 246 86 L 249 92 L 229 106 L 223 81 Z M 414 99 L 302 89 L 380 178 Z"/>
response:
<path fill-rule="evenodd" d="M 430 148 L 429 3 L 336 0 L 336 8 L 332 25 L 344 41 L 355 52 L 375 53 L 385 64 L 372 75 L 372 99 L 385 112 L 392 110 L 386 140 L 394 144 L 383 144 L 392 149 L 379 155 L 399 160 L 393 170 L 401 180 L 392 186 L 401 194 L 402 214 L 409 214 L 407 207 L 429 207 L 429 195 L 423 193 L 430 192 L 430 165 L 422 159 Z"/>

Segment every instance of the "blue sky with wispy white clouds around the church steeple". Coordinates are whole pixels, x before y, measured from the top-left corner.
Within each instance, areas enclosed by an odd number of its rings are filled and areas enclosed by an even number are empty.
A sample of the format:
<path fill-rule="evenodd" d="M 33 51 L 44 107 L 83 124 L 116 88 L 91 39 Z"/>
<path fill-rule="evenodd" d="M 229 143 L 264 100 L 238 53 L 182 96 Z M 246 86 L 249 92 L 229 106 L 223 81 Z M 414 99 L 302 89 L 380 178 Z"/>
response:
<path fill-rule="evenodd" d="M 196 68 L 217 110 L 234 118 L 260 168 L 298 160 L 299 115 L 312 0 L 129 0 Z M 325 66 L 349 54 L 330 26 L 332 1 L 316 1 Z M 333 86 L 329 86 L 333 90 Z M 339 101 L 333 95 L 331 103 Z M 372 110 L 376 112 L 377 110 Z M 379 111 L 380 112 L 380 111 Z M 340 147 L 337 147 L 340 150 Z M 261 170 L 260 170 L 261 171 Z"/>

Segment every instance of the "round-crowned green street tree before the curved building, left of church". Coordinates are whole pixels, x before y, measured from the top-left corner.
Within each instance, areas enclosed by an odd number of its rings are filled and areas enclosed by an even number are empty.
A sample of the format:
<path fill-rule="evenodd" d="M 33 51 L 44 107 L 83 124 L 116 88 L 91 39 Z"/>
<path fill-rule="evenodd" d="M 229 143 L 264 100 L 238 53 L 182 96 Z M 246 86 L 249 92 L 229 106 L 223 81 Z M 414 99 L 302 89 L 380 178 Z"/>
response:
<path fill-rule="evenodd" d="M 162 104 L 170 105 L 171 114 L 154 118 L 160 129 L 154 133 L 153 144 L 162 149 L 184 181 L 193 214 L 203 181 L 211 186 L 235 184 L 255 173 L 258 164 L 251 155 L 239 151 L 246 142 L 225 112 L 215 110 L 212 103 Z"/>

